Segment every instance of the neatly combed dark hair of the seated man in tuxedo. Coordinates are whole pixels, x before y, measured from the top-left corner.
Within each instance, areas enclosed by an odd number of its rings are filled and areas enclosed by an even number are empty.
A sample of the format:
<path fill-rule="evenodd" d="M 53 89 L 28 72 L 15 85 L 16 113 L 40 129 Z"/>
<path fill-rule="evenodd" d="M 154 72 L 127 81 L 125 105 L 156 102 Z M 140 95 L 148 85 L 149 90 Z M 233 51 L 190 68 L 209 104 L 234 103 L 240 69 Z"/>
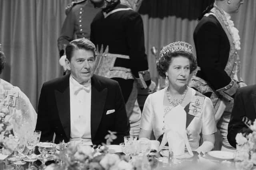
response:
<path fill-rule="evenodd" d="M 66 47 L 66 57 L 67 57 L 68 61 L 71 60 L 71 57 L 72 57 L 74 51 L 78 50 L 78 49 L 84 49 L 84 50 L 92 51 L 92 53 L 95 57 L 96 47 L 92 43 L 92 41 L 90 41 L 86 38 L 80 38 L 80 39 L 75 39 L 75 40 L 71 41 L 67 45 L 67 47 Z"/>

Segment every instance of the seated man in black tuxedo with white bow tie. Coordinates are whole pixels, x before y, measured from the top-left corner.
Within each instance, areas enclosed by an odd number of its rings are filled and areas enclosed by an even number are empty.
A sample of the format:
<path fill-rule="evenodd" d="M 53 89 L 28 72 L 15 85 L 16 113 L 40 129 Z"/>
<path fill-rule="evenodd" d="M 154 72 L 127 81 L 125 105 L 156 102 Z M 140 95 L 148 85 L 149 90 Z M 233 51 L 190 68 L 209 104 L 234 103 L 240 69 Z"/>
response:
<path fill-rule="evenodd" d="M 87 145 L 105 143 L 108 131 L 124 141 L 130 124 L 118 82 L 94 75 L 95 46 L 88 39 L 70 42 L 66 64 L 71 74 L 45 82 L 42 86 L 36 130 L 40 141 L 82 141 Z"/>

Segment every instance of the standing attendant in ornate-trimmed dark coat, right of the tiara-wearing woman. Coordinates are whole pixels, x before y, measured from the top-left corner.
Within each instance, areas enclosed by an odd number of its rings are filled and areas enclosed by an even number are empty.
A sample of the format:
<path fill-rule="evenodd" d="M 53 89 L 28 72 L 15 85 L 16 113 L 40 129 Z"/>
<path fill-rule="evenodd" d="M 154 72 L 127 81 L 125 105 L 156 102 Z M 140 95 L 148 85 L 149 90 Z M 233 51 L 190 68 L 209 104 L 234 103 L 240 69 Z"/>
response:
<path fill-rule="evenodd" d="M 215 0 L 203 12 L 194 30 L 198 69 L 189 86 L 212 100 L 217 128 L 223 138 L 222 150 L 234 149 L 227 140 L 228 122 L 239 87 L 240 37 L 230 14 L 238 12 L 243 0 Z"/>

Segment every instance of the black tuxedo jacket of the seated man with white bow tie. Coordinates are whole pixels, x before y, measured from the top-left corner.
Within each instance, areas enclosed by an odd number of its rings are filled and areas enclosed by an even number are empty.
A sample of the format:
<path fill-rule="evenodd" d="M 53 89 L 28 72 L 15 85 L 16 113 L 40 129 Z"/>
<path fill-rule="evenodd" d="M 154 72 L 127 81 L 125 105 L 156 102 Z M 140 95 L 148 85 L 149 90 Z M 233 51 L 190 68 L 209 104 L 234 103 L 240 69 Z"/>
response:
<path fill-rule="evenodd" d="M 70 74 L 45 82 L 42 86 L 36 130 L 42 131 L 40 141 L 70 140 Z M 108 130 L 117 132 L 112 144 L 124 141 L 129 135 L 130 124 L 126 116 L 124 99 L 118 82 L 102 76 L 91 78 L 91 137 L 92 143 L 106 143 Z M 115 109 L 114 113 L 106 114 Z"/>

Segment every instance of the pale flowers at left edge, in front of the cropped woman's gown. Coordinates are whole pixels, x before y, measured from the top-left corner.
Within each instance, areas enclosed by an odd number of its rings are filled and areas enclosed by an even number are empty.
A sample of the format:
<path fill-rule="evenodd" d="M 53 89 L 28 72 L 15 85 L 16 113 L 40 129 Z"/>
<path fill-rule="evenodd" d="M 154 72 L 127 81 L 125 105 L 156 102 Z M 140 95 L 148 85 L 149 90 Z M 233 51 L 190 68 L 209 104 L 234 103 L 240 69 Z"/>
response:
<path fill-rule="evenodd" d="M 2 154 L 6 155 L 10 155 L 18 145 L 11 133 L 12 119 L 13 116 L 9 110 L 8 100 L 4 99 L 0 103 L 0 148 Z"/>

